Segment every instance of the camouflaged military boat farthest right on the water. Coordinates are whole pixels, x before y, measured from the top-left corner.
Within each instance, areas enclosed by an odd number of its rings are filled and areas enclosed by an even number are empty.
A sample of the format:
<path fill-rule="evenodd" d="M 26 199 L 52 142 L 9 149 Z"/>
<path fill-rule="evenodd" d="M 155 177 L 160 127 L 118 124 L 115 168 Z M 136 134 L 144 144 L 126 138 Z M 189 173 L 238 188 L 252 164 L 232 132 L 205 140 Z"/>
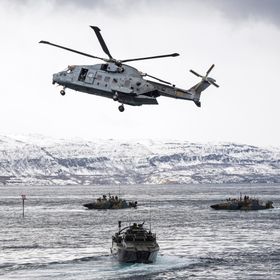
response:
<path fill-rule="evenodd" d="M 264 210 L 274 208 L 272 201 L 261 201 L 247 195 L 240 198 L 228 198 L 226 201 L 213 204 L 210 207 L 215 210 Z"/>

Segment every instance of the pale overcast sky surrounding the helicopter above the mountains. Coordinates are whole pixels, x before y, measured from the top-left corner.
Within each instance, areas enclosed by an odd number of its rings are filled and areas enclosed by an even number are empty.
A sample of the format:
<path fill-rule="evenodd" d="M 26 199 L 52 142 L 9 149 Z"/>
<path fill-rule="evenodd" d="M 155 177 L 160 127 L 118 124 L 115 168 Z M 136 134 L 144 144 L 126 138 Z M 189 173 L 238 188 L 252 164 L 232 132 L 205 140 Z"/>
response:
<path fill-rule="evenodd" d="M 0 1 L 0 134 L 38 133 L 85 139 L 280 143 L 280 1 L 112 0 Z M 38 44 L 47 40 L 104 57 L 97 25 L 117 59 L 180 53 L 131 62 L 142 72 L 190 88 L 215 63 L 220 88 L 193 102 L 158 98 L 126 106 L 52 85 L 52 74 L 98 60 Z"/>

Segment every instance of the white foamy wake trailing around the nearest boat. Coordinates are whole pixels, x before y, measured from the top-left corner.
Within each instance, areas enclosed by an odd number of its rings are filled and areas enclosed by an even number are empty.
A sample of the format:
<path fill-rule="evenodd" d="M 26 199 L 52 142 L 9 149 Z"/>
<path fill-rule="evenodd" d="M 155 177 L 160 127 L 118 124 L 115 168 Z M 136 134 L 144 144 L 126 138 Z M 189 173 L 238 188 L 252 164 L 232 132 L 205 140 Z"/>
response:
<path fill-rule="evenodd" d="M 142 263 L 119 263 L 111 255 L 90 256 L 74 258 L 67 261 L 53 261 L 46 263 L 6 263 L 0 266 L 0 275 L 5 274 L 6 278 L 12 279 L 24 271 L 29 279 L 43 279 L 47 274 L 51 276 L 66 275 L 67 268 L 71 267 L 71 277 L 79 278 L 81 271 L 88 271 L 88 277 L 84 279 L 149 279 L 161 273 L 173 273 L 185 270 L 190 267 L 203 265 L 203 260 L 190 260 L 186 257 L 159 255 L 157 261 L 153 264 Z M 73 268 L 75 272 L 73 272 Z M 36 277 L 33 272 L 36 271 Z M 70 271 L 70 269 L 69 269 Z M 70 272 L 69 272 L 70 273 Z"/>

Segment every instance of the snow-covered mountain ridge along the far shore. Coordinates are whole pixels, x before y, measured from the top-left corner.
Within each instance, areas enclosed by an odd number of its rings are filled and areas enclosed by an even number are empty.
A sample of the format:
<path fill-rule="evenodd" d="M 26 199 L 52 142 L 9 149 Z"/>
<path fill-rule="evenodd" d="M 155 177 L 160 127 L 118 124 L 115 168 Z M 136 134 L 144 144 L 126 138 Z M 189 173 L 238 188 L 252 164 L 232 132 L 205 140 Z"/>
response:
<path fill-rule="evenodd" d="M 0 184 L 280 183 L 280 148 L 0 136 Z"/>

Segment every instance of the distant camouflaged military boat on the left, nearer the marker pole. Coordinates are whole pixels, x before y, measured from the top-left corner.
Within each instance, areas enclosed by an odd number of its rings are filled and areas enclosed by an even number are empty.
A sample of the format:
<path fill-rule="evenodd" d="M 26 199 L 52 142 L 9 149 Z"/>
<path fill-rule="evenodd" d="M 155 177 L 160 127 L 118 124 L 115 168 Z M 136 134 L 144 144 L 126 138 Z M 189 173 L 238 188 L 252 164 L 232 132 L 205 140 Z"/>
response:
<path fill-rule="evenodd" d="M 118 196 L 112 196 L 109 194 L 99 197 L 94 202 L 83 204 L 88 209 L 125 209 L 125 208 L 136 208 L 137 201 L 127 202 L 125 199 L 119 198 Z"/>

